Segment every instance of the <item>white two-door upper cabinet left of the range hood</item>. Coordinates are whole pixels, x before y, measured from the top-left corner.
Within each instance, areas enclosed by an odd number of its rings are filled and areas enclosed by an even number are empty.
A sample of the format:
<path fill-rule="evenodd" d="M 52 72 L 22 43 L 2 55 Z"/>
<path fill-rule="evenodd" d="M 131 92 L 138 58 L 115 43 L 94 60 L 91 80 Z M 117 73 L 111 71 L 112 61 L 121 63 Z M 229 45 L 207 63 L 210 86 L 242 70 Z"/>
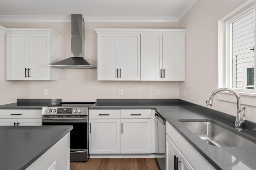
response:
<path fill-rule="evenodd" d="M 58 80 L 59 34 L 49 29 L 8 29 L 6 80 Z"/>

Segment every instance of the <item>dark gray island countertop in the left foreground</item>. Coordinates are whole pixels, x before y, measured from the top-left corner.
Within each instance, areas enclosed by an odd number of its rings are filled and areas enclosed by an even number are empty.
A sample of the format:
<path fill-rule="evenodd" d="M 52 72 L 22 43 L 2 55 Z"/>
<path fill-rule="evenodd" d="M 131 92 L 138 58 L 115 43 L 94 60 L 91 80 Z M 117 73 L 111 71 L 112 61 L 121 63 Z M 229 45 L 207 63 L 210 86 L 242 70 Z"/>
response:
<path fill-rule="evenodd" d="M 72 129 L 72 126 L 0 126 L 0 169 L 26 169 Z"/>

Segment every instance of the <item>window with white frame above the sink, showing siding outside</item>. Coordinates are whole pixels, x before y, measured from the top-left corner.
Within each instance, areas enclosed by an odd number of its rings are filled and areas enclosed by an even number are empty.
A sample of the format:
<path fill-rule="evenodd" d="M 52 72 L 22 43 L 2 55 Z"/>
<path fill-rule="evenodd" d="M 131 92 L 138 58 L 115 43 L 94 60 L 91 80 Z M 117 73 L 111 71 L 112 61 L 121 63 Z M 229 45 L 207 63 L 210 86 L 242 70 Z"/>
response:
<path fill-rule="evenodd" d="M 255 0 L 248 0 L 218 22 L 219 87 L 253 96 L 255 4 Z"/>

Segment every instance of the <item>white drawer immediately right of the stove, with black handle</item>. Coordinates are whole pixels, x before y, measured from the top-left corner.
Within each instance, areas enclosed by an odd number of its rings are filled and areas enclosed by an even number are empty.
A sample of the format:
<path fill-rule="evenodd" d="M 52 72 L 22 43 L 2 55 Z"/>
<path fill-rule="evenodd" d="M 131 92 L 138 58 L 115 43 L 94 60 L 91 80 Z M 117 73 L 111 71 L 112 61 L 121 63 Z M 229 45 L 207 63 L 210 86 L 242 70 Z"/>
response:
<path fill-rule="evenodd" d="M 89 119 L 120 119 L 120 110 L 89 110 Z"/>

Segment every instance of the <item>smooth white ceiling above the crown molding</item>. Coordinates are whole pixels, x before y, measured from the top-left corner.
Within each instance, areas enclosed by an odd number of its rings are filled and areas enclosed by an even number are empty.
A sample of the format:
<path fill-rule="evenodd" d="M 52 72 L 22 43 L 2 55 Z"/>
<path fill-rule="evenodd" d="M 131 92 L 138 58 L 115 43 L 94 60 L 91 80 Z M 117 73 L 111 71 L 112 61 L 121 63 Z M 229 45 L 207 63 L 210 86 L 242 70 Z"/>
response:
<path fill-rule="evenodd" d="M 14 16 L 169 17 L 178 22 L 196 0 L 0 0 L 0 21 Z"/>

